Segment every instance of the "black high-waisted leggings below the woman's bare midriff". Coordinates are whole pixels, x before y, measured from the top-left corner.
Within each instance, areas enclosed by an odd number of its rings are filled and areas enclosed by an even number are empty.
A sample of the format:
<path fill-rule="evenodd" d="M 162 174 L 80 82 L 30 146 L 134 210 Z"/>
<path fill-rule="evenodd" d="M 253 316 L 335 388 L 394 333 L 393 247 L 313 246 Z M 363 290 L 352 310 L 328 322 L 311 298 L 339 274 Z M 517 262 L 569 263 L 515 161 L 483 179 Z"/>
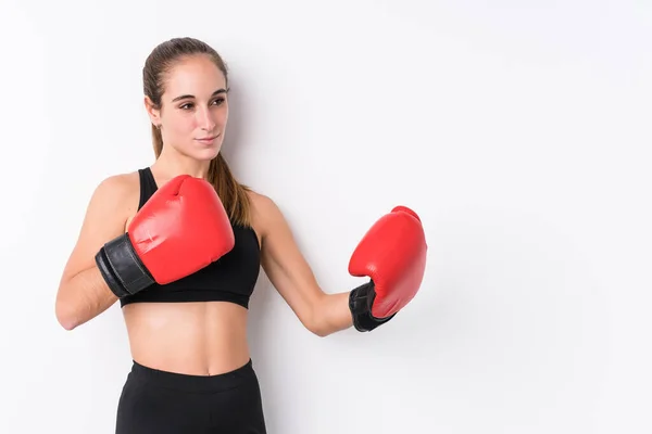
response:
<path fill-rule="evenodd" d="M 252 362 L 212 375 L 160 371 L 134 361 L 117 407 L 116 434 L 265 434 Z"/>

